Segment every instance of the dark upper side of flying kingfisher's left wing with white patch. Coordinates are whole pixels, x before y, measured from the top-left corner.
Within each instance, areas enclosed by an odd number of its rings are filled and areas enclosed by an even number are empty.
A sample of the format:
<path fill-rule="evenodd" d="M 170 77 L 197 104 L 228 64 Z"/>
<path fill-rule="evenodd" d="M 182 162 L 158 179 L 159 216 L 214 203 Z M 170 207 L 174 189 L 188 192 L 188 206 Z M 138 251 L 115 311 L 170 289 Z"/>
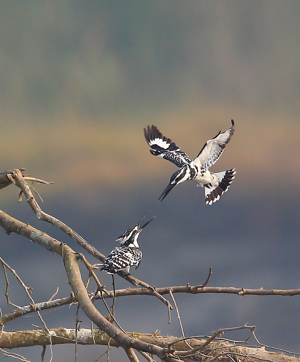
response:
<path fill-rule="evenodd" d="M 152 155 L 162 157 L 174 163 L 177 167 L 182 167 L 191 162 L 189 156 L 180 151 L 180 147 L 170 138 L 163 136 L 156 126 L 147 126 L 147 128 L 144 128 L 144 134 L 147 143 L 152 148 L 150 150 Z"/>

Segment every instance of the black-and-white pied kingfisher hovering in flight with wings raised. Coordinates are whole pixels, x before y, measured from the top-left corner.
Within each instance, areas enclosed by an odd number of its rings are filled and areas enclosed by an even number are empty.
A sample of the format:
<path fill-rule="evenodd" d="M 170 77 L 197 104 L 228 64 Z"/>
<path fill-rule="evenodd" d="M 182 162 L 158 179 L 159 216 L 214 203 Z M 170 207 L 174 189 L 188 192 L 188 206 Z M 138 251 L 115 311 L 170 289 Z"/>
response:
<path fill-rule="evenodd" d="M 166 195 L 178 184 L 187 180 L 195 180 L 197 186 L 204 186 L 205 203 L 211 205 L 219 200 L 228 190 L 234 179 L 236 171 L 234 168 L 223 172 L 210 172 L 208 168 L 216 163 L 224 151 L 225 146 L 230 141 L 234 132 L 234 122 L 225 132 L 221 131 L 212 139 L 209 139 L 198 156 L 190 160 L 185 152 L 180 151 L 180 147 L 169 138 L 166 138 L 155 126 L 144 128 L 145 138 L 152 148 L 150 152 L 154 156 L 159 156 L 174 163 L 179 170 L 173 173 L 169 185 L 160 195 L 158 201 L 162 201 Z"/>

